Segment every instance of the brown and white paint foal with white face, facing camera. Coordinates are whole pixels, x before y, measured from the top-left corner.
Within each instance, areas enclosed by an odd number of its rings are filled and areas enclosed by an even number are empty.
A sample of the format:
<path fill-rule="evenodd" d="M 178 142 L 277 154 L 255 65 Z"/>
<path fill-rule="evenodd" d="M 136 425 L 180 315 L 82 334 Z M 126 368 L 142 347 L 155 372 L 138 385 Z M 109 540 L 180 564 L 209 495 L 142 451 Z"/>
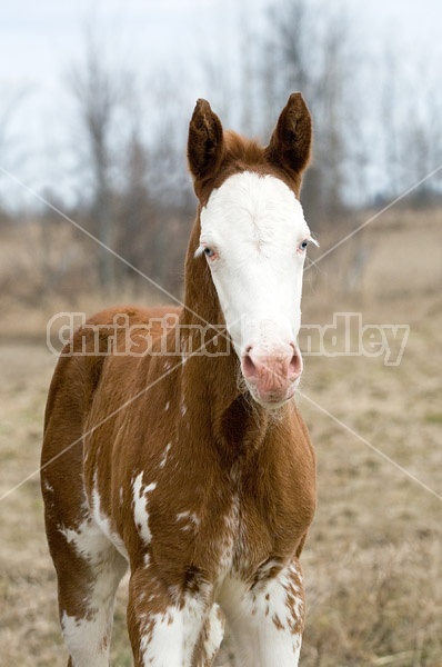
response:
<path fill-rule="evenodd" d="M 298 558 L 315 506 L 314 454 L 292 400 L 311 241 L 298 198 L 310 143 L 299 93 L 267 148 L 224 133 L 199 100 L 185 307 L 103 311 L 59 360 L 42 491 L 71 666 L 109 665 L 128 566 L 137 666 L 212 665 L 224 619 L 238 666 L 298 665 Z M 106 355 L 118 312 L 135 354 L 124 355 L 119 330 Z M 228 339 L 203 332 L 207 323 L 225 323 Z"/>

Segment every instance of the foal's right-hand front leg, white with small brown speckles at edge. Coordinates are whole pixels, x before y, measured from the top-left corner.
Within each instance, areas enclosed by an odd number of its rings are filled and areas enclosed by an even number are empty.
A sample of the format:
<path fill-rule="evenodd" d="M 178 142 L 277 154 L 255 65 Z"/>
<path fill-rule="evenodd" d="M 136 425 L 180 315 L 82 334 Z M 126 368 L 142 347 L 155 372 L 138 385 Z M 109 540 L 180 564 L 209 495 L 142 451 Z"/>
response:
<path fill-rule="evenodd" d="M 278 576 L 251 589 L 228 585 L 220 600 L 243 667 L 295 667 L 301 653 L 304 595 L 301 568 L 293 560 Z"/>

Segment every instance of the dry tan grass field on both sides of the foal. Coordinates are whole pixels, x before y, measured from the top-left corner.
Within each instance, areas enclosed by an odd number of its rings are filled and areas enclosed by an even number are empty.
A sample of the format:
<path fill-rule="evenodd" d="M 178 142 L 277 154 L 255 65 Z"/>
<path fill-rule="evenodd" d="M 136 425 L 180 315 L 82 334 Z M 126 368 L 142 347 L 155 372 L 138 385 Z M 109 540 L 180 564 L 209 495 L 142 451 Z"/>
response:
<path fill-rule="evenodd" d="M 368 249 L 365 263 L 345 291 L 358 247 Z M 305 358 L 299 402 L 318 454 L 319 505 L 302 558 L 303 667 L 442 666 L 441 267 L 441 211 L 396 211 L 305 275 L 304 323 L 361 312 L 364 325 L 409 325 L 410 335 L 398 366 L 383 357 Z M 37 474 L 56 364 L 46 347 L 48 310 L 2 309 L 0 496 L 20 485 L 0 502 L 4 667 L 67 659 Z M 131 665 L 124 596 L 122 587 L 117 667 Z"/>

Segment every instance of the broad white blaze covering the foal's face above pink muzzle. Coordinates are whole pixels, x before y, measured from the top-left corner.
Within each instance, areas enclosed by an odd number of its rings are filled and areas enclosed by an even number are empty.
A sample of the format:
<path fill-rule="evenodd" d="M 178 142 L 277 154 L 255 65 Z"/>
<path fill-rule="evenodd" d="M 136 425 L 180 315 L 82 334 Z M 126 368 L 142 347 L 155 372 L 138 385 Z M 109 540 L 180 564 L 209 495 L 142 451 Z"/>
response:
<path fill-rule="evenodd" d="M 237 354 L 295 342 L 301 325 L 304 252 L 310 237 L 301 203 L 272 176 L 230 177 L 201 211 L 201 246 Z M 218 322 L 217 322 L 218 323 Z"/>

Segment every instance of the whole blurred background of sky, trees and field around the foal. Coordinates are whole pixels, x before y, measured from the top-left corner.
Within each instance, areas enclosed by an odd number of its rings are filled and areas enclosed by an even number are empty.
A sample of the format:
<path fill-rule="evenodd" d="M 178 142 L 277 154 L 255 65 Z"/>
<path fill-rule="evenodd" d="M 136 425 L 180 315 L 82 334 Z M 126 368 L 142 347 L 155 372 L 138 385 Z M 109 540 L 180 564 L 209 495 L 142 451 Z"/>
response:
<path fill-rule="evenodd" d="M 394 367 L 305 358 L 299 400 L 318 450 L 319 508 L 303 557 L 302 664 L 442 665 L 441 24 L 439 0 L 2 9 L 0 664 L 66 660 L 37 474 L 56 364 L 47 321 L 170 302 L 163 290 L 180 298 L 197 98 L 267 143 L 300 90 L 314 123 L 301 200 L 321 243 L 303 322 L 345 311 L 410 326 Z M 125 667 L 120 598 L 112 655 Z"/>

